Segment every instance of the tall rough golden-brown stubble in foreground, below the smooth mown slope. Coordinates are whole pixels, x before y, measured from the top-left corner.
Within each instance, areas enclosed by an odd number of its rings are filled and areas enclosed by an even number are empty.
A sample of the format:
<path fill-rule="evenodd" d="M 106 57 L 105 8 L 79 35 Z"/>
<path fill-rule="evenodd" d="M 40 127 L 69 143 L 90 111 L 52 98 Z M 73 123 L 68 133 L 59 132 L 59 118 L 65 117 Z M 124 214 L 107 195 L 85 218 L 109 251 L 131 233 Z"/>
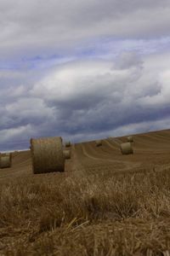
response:
<path fill-rule="evenodd" d="M 0 255 L 170 252 L 170 170 L 25 177 L 0 200 Z"/>

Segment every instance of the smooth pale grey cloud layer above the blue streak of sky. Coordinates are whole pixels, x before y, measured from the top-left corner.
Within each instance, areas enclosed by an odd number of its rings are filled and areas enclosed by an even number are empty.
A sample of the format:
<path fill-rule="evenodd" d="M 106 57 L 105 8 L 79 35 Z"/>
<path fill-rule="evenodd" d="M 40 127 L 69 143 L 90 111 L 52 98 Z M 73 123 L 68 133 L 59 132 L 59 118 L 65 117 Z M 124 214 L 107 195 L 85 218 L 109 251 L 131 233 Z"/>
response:
<path fill-rule="evenodd" d="M 0 9 L 2 59 L 68 53 L 94 38 L 161 38 L 169 33 L 167 0 L 3 0 Z"/>

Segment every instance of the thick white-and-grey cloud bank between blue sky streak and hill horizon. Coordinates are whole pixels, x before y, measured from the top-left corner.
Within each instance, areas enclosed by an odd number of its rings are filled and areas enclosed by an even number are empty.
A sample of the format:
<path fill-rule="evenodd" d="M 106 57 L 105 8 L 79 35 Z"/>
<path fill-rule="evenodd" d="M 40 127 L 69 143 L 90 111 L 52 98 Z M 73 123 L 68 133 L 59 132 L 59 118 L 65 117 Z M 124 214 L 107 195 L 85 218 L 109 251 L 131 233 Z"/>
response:
<path fill-rule="evenodd" d="M 167 70 L 157 73 L 159 58 L 122 53 L 114 63 L 74 61 L 56 67 L 26 91 L 19 87 L 19 96 L 0 108 L 1 147 L 28 147 L 30 137 L 40 135 L 77 142 L 156 130 L 160 124 L 166 128 L 170 73 L 168 62 Z"/>

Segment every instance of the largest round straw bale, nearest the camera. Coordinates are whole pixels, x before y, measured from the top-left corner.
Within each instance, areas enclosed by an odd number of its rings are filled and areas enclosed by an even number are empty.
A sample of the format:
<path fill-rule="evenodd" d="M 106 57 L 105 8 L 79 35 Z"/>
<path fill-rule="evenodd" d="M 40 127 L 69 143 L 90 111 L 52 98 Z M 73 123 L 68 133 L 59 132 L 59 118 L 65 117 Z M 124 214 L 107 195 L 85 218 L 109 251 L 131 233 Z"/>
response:
<path fill-rule="evenodd" d="M 65 171 L 61 137 L 31 138 L 30 143 L 33 173 Z"/>

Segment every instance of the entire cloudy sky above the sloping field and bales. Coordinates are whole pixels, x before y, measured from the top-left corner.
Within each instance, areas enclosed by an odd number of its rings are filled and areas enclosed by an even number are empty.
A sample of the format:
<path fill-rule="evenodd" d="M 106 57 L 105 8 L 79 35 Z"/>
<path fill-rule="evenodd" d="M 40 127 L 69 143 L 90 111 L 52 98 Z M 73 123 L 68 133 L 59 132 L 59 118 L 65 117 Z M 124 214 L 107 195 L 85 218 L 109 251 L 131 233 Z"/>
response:
<path fill-rule="evenodd" d="M 169 0 L 1 0 L 0 151 L 170 128 Z"/>

